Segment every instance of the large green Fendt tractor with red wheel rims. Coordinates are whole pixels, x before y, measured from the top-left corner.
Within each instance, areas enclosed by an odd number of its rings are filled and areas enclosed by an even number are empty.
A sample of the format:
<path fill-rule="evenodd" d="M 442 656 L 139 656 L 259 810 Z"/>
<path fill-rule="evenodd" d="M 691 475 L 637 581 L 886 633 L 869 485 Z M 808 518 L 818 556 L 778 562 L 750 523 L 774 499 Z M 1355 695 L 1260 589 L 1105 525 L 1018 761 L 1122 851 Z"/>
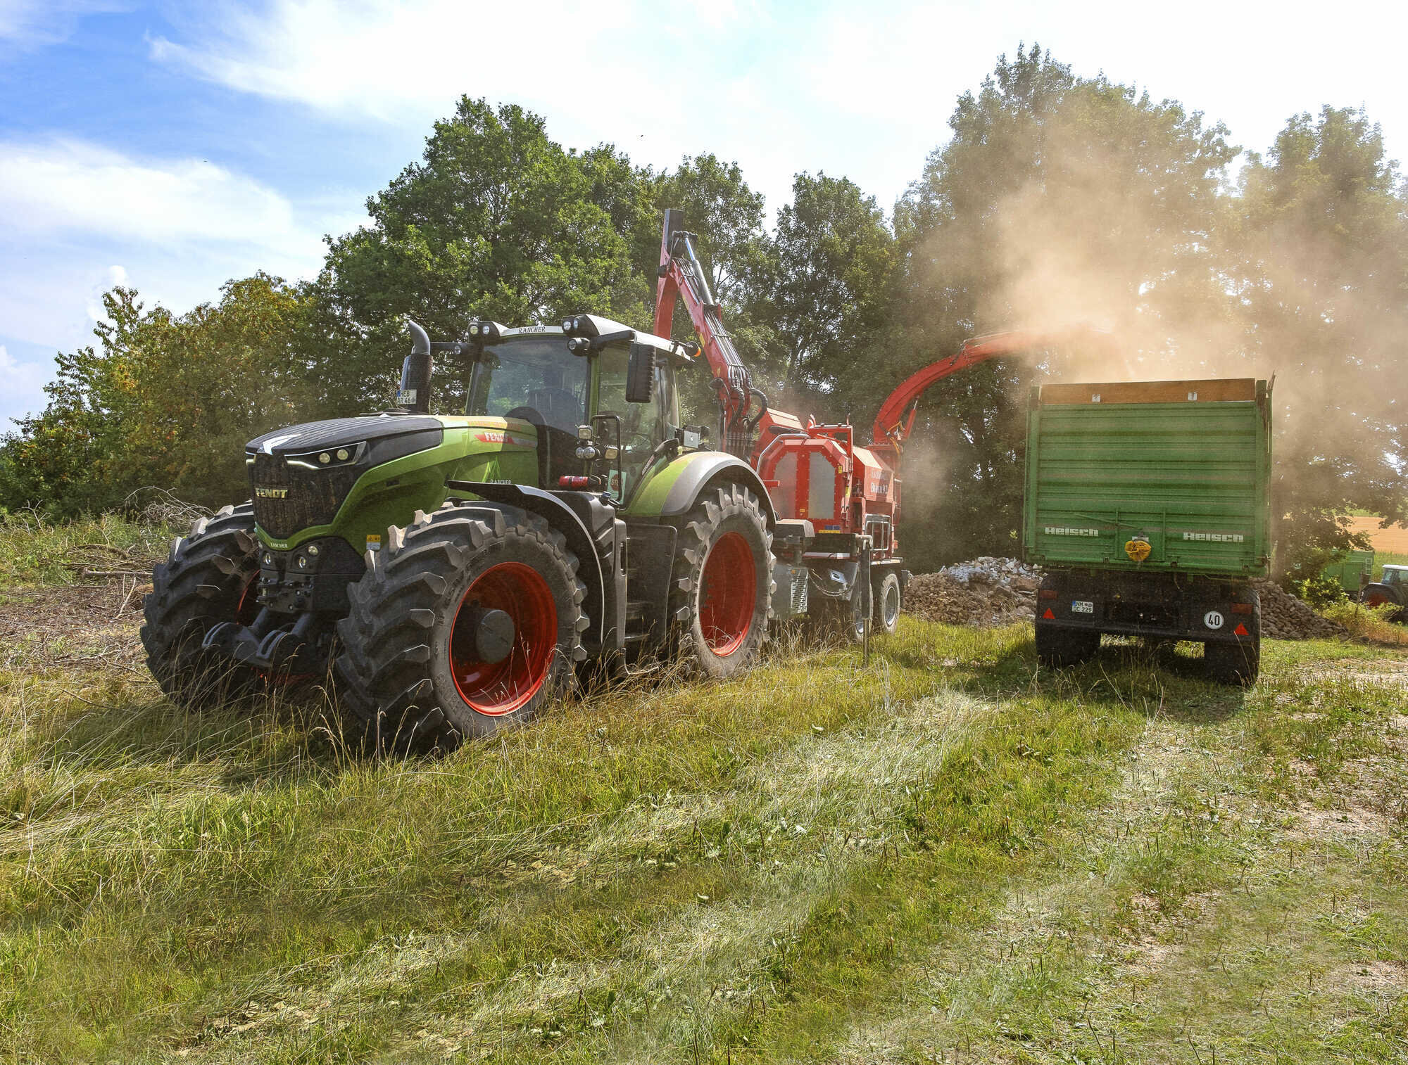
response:
<path fill-rule="evenodd" d="M 162 689 L 201 705 L 331 664 L 377 744 L 524 720 L 580 663 L 639 649 L 725 677 L 772 613 L 774 514 L 745 461 L 680 425 L 693 345 L 594 315 L 431 343 L 398 408 L 251 440 L 251 502 L 176 540 L 146 597 Z M 472 367 L 429 414 L 434 352 Z"/>

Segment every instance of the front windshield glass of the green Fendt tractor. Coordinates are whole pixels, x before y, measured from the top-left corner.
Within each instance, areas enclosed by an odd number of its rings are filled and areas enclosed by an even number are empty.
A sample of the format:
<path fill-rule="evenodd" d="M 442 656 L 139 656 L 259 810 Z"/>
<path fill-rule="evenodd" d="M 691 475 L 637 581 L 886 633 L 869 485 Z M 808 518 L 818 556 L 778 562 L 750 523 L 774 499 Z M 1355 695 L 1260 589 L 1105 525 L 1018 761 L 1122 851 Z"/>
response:
<path fill-rule="evenodd" d="M 589 369 L 556 333 L 496 343 L 474 363 L 465 412 L 527 418 L 574 433 L 584 421 Z"/>

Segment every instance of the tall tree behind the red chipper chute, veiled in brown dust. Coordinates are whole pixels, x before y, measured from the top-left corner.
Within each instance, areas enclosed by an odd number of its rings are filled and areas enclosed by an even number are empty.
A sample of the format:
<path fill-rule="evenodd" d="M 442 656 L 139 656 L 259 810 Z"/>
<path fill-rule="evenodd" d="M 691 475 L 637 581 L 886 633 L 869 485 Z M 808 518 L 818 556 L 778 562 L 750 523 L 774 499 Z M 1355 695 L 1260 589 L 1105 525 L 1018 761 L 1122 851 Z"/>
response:
<path fill-rule="evenodd" d="M 967 336 L 1094 322 L 1128 360 L 1083 353 L 1081 376 L 1149 376 L 1191 326 L 1228 319 L 1205 253 L 1236 148 L 1221 125 L 1105 77 L 1081 79 L 1039 48 L 998 59 L 964 93 L 952 139 L 895 207 L 903 262 L 872 401 Z M 1197 308 L 1197 311 L 1194 311 Z M 1202 339 L 1201 335 L 1198 338 Z M 926 397 L 907 474 L 911 550 L 924 563 L 1011 543 L 1021 506 L 1022 400 L 1038 353 L 948 378 Z M 938 439 L 936 426 L 953 426 Z M 942 445 L 942 446 L 941 446 Z M 932 508 L 932 509 L 931 509 Z"/>

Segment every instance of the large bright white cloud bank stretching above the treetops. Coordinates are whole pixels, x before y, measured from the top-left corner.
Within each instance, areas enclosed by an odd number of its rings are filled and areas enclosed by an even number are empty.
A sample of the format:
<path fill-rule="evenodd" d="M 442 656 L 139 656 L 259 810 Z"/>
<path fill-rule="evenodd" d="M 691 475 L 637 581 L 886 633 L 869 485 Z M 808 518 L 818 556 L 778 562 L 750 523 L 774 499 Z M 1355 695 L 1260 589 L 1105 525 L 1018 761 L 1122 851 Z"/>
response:
<path fill-rule="evenodd" d="M 738 159 L 774 210 L 803 169 L 846 174 L 888 205 L 948 139 L 957 94 L 1024 41 L 1225 120 L 1253 148 L 1324 103 L 1363 103 L 1408 136 L 1408 96 L 1384 53 L 1408 30 L 1401 1 L 1329 23 L 1309 0 L 1284 0 L 1274 20 L 1225 0 L 1188 0 L 1174 20 L 1111 0 L 725 0 L 669 14 L 643 0 L 251 0 L 217 11 L 153 41 L 153 58 L 349 124 L 427 128 L 463 93 L 511 100 L 569 145 L 611 141 L 656 166 L 700 151 Z M 1364 62 L 1370 21 L 1383 45 Z"/>

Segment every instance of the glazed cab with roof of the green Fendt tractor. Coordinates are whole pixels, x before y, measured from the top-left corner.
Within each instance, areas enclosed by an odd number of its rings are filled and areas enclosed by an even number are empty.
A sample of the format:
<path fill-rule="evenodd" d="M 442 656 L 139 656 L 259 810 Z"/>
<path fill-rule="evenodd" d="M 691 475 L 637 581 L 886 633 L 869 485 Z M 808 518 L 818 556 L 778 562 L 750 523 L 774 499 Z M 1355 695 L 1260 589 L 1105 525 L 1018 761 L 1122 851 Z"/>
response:
<path fill-rule="evenodd" d="M 466 415 L 528 422 L 542 488 L 593 487 L 624 504 L 652 456 L 680 432 L 674 388 L 689 352 L 597 315 L 562 326 L 476 324 Z M 593 484 L 582 478 L 593 471 Z"/>

